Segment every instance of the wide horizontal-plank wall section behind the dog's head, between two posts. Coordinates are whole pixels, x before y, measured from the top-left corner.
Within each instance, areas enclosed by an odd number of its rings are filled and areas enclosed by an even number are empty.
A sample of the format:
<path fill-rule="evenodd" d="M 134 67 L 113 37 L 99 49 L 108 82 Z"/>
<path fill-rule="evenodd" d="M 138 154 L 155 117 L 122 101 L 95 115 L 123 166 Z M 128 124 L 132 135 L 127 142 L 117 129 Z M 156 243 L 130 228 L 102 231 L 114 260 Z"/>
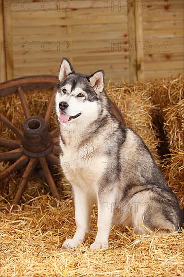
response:
<path fill-rule="evenodd" d="M 121 49 L 128 40 L 126 10 L 91 0 L 29 2 L 13 1 L 14 77 L 57 75 L 66 56 L 77 71 L 103 68 L 106 80 L 129 79 L 129 53 L 126 45 Z"/>

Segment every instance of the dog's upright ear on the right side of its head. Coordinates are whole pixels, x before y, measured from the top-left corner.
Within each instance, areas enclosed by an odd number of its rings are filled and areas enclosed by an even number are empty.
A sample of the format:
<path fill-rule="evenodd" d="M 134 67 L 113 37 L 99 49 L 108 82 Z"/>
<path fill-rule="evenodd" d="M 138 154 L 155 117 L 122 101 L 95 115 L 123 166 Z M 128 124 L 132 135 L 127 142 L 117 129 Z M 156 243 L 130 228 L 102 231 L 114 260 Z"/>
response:
<path fill-rule="evenodd" d="M 89 81 L 94 91 L 100 95 L 104 89 L 104 71 L 98 70 L 89 76 Z"/>

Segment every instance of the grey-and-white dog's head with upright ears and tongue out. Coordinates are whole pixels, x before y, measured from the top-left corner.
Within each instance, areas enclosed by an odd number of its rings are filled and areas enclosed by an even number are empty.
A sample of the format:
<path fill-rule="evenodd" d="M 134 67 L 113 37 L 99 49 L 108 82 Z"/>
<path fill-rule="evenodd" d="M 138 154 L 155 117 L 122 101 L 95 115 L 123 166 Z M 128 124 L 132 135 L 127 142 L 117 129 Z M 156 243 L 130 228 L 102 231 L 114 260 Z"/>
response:
<path fill-rule="evenodd" d="M 56 93 L 56 113 L 60 123 L 91 123 L 100 113 L 100 98 L 104 91 L 104 71 L 84 75 L 73 70 L 63 58 L 59 72 L 59 88 Z"/>

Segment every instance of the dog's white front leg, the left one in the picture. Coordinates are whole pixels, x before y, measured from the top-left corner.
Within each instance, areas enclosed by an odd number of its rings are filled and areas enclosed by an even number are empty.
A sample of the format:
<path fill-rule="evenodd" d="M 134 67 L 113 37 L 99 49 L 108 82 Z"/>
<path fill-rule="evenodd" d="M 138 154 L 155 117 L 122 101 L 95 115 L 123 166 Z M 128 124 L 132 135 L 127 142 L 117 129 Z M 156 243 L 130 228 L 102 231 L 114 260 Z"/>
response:
<path fill-rule="evenodd" d="M 83 243 L 85 234 L 89 231 L 89 218 L 93 199 L 88 197 L 87 191 L 73 187 L 75 201 L 76 232 L 72 239 L 67 239 L 62 248 L 76 248 Z"/>

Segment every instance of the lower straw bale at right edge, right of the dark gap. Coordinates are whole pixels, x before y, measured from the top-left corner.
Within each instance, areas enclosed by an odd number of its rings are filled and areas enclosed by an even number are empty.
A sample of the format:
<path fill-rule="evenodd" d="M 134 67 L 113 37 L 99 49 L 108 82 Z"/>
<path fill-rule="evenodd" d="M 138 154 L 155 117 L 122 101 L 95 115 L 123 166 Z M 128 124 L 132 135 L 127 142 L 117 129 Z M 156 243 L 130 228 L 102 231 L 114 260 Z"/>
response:
<path fill-rule="evenodd" d="M 184 99 L 169 105 L 165 113 L 164 129 L 170 155 L 164 160 L 164 176 L 184 208 Z"/>

